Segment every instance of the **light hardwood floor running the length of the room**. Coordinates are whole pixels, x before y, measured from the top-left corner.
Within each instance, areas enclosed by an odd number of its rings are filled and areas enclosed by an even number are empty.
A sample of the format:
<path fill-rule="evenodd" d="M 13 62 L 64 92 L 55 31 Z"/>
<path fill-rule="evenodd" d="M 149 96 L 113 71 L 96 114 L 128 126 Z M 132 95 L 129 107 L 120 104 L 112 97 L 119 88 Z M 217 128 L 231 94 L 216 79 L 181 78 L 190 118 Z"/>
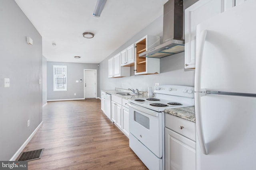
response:
<path fill-rule="evenodd" d="M 29 170 L 147 169 L 128 138 L 104 115 L 99 99 L 48 102 L 43 125 L 23 152 L 44 148 Z"/>

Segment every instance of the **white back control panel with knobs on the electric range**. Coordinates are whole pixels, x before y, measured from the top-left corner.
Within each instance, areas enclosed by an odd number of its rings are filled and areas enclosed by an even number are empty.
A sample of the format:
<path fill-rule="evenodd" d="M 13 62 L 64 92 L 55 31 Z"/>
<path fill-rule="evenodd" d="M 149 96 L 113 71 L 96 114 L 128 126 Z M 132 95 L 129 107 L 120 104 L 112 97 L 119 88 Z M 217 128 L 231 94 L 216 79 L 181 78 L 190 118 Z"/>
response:
<path fill-rule="evenodd" d="M 194 87 L 178 85 L 161 85 L 154 87 L 154 93 L 194 98 Z"/>

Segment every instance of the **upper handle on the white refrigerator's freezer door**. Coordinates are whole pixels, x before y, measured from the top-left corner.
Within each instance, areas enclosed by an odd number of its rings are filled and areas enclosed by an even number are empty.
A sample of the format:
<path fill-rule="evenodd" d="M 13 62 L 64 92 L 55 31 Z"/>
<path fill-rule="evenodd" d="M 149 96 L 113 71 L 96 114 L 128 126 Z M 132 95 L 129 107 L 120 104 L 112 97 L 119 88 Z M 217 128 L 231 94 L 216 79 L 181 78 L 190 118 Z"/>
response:
<path fill-rule="evenodd" d="M 196 35 L 199 35 L 199 37 L 196 38 L 195 92 L 202 92 L 201 68 L 202 68 L 202 57 L 204 52 L 204 42 L 206 39 L 207 30 L 202 31 L 201 33 L 196 32 Z"/>

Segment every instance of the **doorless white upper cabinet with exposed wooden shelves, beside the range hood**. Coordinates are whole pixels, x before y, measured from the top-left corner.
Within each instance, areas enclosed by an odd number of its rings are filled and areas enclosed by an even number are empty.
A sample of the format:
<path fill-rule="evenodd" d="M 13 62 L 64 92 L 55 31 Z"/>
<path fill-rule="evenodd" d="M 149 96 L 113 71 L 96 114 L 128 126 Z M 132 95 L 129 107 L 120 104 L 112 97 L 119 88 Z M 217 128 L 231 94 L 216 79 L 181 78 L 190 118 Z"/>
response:
<path fill-rule="evenodd" d="M 146 35 L 135 43 L 135 75 L 160 73 L 160 59 L 139 57 L 140 53 L 160 44 L 160 37 Z"/>

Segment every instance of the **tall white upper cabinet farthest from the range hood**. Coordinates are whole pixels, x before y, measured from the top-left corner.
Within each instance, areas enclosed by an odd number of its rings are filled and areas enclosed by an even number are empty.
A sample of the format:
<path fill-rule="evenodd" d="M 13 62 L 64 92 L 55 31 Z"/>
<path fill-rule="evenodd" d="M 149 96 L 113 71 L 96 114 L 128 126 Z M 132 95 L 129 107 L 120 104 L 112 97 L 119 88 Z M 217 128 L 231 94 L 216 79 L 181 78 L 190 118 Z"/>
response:
<path fill-rule="evenodd" d="M 108 77 L 124 77 L 130 76 L 130 67 L 121 67 L 121 53 L 108 60 Z"/>

